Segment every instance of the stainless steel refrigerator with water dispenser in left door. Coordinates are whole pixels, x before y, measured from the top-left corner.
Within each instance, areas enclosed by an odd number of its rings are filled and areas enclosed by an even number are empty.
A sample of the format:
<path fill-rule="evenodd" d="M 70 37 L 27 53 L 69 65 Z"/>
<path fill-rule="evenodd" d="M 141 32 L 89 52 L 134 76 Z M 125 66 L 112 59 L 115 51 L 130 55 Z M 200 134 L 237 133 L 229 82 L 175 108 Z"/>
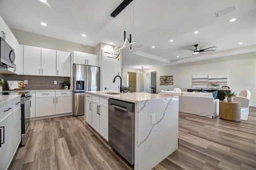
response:
<path fill-rule="evenodd" d="M 73 65 L 73 115 L 84 115 L 85 91 L 100 90 L 100 67 Z"/>

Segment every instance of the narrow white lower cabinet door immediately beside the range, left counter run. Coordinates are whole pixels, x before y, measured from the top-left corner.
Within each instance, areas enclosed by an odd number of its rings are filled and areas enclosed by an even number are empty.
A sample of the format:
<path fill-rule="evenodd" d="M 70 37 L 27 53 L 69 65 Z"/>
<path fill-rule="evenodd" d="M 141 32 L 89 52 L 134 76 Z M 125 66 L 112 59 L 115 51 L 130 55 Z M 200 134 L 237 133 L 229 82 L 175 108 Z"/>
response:
<path fill-rule="evenodd" d="M 20 144 L 20 114 L 20 109 L 18 109 L 12 115 L 12 156 L 14 156 L 15 151 Z"/>

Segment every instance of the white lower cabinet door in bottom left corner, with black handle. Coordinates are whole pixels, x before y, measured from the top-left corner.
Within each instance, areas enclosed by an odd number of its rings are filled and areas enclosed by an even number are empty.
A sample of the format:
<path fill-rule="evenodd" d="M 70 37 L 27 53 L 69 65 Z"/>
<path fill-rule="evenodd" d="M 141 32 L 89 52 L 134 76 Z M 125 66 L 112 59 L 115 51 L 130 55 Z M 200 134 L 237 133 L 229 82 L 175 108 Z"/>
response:
<path fill-rule="evenodd" d="M 12 116 L 9 116 L 0 124 L 1 147 L 0 169 L 6 170 L 12 160 Z"/>

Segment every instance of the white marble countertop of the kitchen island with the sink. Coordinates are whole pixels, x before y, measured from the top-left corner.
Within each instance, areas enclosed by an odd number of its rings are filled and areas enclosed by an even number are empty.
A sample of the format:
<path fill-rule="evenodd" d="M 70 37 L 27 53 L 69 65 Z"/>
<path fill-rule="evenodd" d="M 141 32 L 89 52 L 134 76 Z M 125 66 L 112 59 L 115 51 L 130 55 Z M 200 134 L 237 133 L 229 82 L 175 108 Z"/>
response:
<path fill-rule="evenodd" d="M 174 96 L 174 95 L 169 95 L 169 94 L 152 94 L 152 93 L 138 93 L 138 92 L 120 93 L 118 91 L 86 91 L 86 93 L 100 95 L 103 97 L 109 97 L 112 99 L 119 99 L 119 100 L 128 101 L 128 102 L 132 102 L 132 103 Z M 108 95 L 106 93 L 119 93 L 119 94 L 118 95 Z"/>

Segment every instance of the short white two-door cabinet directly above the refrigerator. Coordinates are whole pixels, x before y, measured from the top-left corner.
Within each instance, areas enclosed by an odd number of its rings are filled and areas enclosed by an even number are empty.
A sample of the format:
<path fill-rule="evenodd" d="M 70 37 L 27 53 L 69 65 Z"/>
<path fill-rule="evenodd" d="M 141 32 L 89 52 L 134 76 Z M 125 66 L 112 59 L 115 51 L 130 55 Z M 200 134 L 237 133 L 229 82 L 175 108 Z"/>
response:
<path fill-rule="evenodd" d="M 98 55 L 73 51 L 73 63 L 98 66 Z"/>

